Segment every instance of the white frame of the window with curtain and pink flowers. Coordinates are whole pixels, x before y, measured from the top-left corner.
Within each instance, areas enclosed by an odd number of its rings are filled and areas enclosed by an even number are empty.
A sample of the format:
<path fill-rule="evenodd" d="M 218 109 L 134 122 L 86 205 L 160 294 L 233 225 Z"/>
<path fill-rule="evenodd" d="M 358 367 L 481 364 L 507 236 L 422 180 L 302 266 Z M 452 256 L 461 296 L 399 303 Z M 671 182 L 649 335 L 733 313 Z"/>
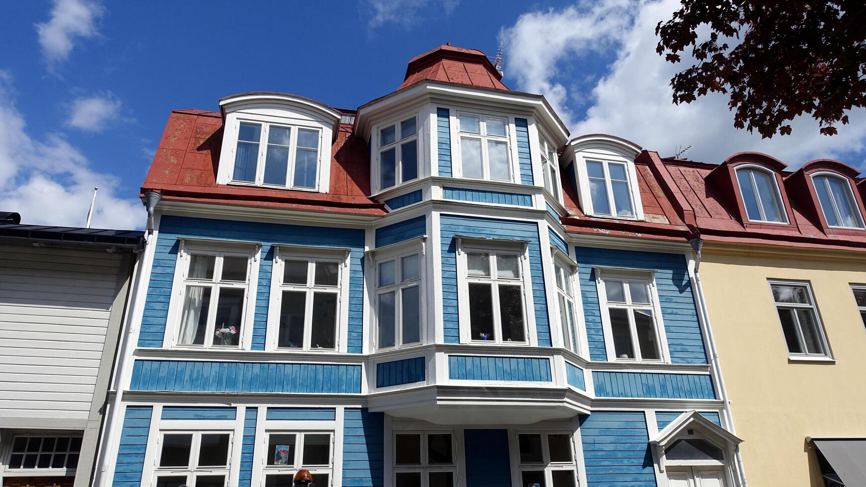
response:
<path fill-rule="evenodd" d="M 169 301 L 168 317 L 166 319 L 167 327 L 171 327 L 171 331 L 166 330 L 163 339 L 164 348 L 179 348 L 179 349 L 247 349 L 249 348 L 250 339 L 253 334 L 253 322 L 255 318 L 255 292 L 259 277 L 259 253 L 261 244 L 254 242 L 239 242 L 229 240 L 207 240 L 207 239 L 180 239 L 178 247 L 178 260 L 175 264 L 174 280 L 171 285 L 171 298 Z M 228 281 L 220 283 L 216 279 L 222 272 L 222 259 L 217 258 L 214 266 L 213 279 L 188 279 L 187 275 L 190 271 L 191 255 L 215 255 L 218 257 L 246 257 L 249 259 L 247 266 L 246 282 Z M 216 289 L 216 287 L 226 288 L 243 288 L 245 290 L 243 297 L 243 316 L 241 318 L 242 328 L 238 336 L 237 345 L 214 345 L 215 336 L 210 333 L 214 330 L 216 324 L 216 303 L 219 298 L 218 293 L 211 292 L 210 294 L 210 312 L 208 317 L 207 331 L 205 331 L 204 345 L 181 344 L 178 343 L 180 335 L 180 321 L 184 316 L 184 300 L 186 298 L 187 285 L 207 285 Z"/>

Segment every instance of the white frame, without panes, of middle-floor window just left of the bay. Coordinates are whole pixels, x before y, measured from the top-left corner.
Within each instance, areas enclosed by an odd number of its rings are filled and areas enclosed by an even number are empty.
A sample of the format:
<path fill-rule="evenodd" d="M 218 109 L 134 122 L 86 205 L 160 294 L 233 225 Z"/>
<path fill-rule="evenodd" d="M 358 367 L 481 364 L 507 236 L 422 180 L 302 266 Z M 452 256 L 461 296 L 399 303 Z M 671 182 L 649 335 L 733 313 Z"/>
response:
<path fill-rule="evenodd" d="M 346 333 L 348 328 L 348 293 L 349 293 L 349 249 L 332 247 L 275 246 L 274 264 L 271 270 L 270 297 L 268 299 L 268 338 L 266 349 L 286 353 L 316 352 L 334 353 L 346 351 Z M 307 284 L 283 284 L 283 272 L 286 260 L 307 261 Z M 336 286 L 315 285 L 314 265 L 316 262 L 336 262 L 338 264 L 338 280 Z M 301 348 L 281 348 L 279 344 L 280 314 L 282 292 L 306 292 L 307 301 L 304 308 L 304 343 Z M 337 295 L 336 323 L 334 324 L 334 348 L 313 349 L 311 338 L 313 334 L 313 294 L 315 292 L 331 292 Z"/>

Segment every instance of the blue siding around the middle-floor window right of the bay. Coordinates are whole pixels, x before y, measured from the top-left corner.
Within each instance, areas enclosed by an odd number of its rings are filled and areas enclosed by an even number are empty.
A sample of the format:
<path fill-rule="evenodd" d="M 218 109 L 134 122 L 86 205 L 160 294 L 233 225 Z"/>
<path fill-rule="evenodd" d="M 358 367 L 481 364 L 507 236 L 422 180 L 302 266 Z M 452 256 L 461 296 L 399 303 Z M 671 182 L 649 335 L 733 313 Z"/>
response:
<path fill-rule="evenodd" d="M 647 269 L 655 273 L 671 362 L 707 363 L 685 256 L 597 247 L 576 247 L 575 251 L 591 360 L 607 360 L 598 288 L 592 267 L 611 266 Z"/>

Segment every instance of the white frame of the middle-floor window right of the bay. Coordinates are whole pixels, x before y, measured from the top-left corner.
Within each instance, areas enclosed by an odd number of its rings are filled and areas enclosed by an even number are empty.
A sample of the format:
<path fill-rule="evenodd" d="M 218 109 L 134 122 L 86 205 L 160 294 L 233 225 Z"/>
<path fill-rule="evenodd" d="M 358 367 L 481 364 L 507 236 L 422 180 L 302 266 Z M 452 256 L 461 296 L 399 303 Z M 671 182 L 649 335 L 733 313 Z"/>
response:
<path fill-rule="evenodd" d="M 670 363 L 670 352 L 668 348 L 668 337 L 664 330 L 664 319 L 662 317 L 662 308 L 658 298 L 658 290 L 656 286 L 656 274 L 653 271 L 643 269 L 618 269 L 596 267 L 596 288 L 598 291 L 598 307 L 601 311 L 602 327 L 604 329 L 604 348 L 607 351 L 608 362 L 626 362 L 626 363 Z M 624 287 L 626 304 L 610 304 L 607 300 L 607 289 L 605 281 L 635 281 L 643 282 L 647 285 L 647 292 L 650 297 L 650 304 L 630 304 L 630 291 Z M 617 350 L 613 342 L 613 329 L 611 327 L 610 309 L 626 309 L 629 311 L 629 327 L 631 333 L 631 347 L 635 354 L 635 358 L 619 358 Z M 637 342 L 637 330 L 634 323 L 633 311 L 635 309 L 651 308 L 653 312 L 653 325 L 656 333 L 656 343 L 659 346 L 658 359 L 643 359 L 640 350 L 640 344 Z"/>

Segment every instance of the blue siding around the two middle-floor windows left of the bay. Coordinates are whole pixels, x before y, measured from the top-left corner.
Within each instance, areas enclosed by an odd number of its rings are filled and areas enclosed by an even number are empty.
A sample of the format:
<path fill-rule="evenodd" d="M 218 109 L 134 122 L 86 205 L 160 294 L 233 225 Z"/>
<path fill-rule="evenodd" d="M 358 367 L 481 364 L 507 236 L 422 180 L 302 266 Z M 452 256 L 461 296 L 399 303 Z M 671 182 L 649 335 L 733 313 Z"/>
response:
<path fill-rule="evenodd" d="M 264 349 L 264 330 L 268 321 L 267 293 L 270 289 L 271 244 L 350 248 L 348 351 L 361 353 L 364 306 L 364 245 L 361 228 L 308 227 L 255 221 L 214 220 L 165 215 L 159 223 L 159 236 L 153 258 L 150 285 L 145 298 L 144 317 L 139 333 L 139 347 L 162 347 L 165 336 L 168 303 L 175 264 L 178 260 L 178 237 L 245 240 L 262 244 L 262 261 L 255 299 L 255 325 L 252 349 Z M 266 263 L 267 262 L 267 263 Z"/>

